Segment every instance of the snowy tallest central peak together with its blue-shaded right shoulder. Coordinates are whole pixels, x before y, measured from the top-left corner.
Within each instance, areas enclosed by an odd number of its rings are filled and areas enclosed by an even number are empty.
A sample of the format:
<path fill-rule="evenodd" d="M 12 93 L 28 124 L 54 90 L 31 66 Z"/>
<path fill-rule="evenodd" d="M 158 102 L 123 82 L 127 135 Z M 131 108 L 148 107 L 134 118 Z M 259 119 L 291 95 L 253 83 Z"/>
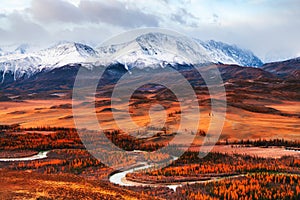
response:
<path fill-rule="evenodd" d="M 223 63 L 251 67 L 263 65 L 262 61 L 251 51 L 235 45 L 214 40 L 192 41 L 185 37 L 162 33 L 144 34 L 133 41 L 100 47 L 97 50 L 100 55 L 115 55 L 117 57 L 115 62 L 132 67 L 153 67 L 165 62 L 171 64 Z M 124 55 L 125 52 L 126 55 Z"/>

